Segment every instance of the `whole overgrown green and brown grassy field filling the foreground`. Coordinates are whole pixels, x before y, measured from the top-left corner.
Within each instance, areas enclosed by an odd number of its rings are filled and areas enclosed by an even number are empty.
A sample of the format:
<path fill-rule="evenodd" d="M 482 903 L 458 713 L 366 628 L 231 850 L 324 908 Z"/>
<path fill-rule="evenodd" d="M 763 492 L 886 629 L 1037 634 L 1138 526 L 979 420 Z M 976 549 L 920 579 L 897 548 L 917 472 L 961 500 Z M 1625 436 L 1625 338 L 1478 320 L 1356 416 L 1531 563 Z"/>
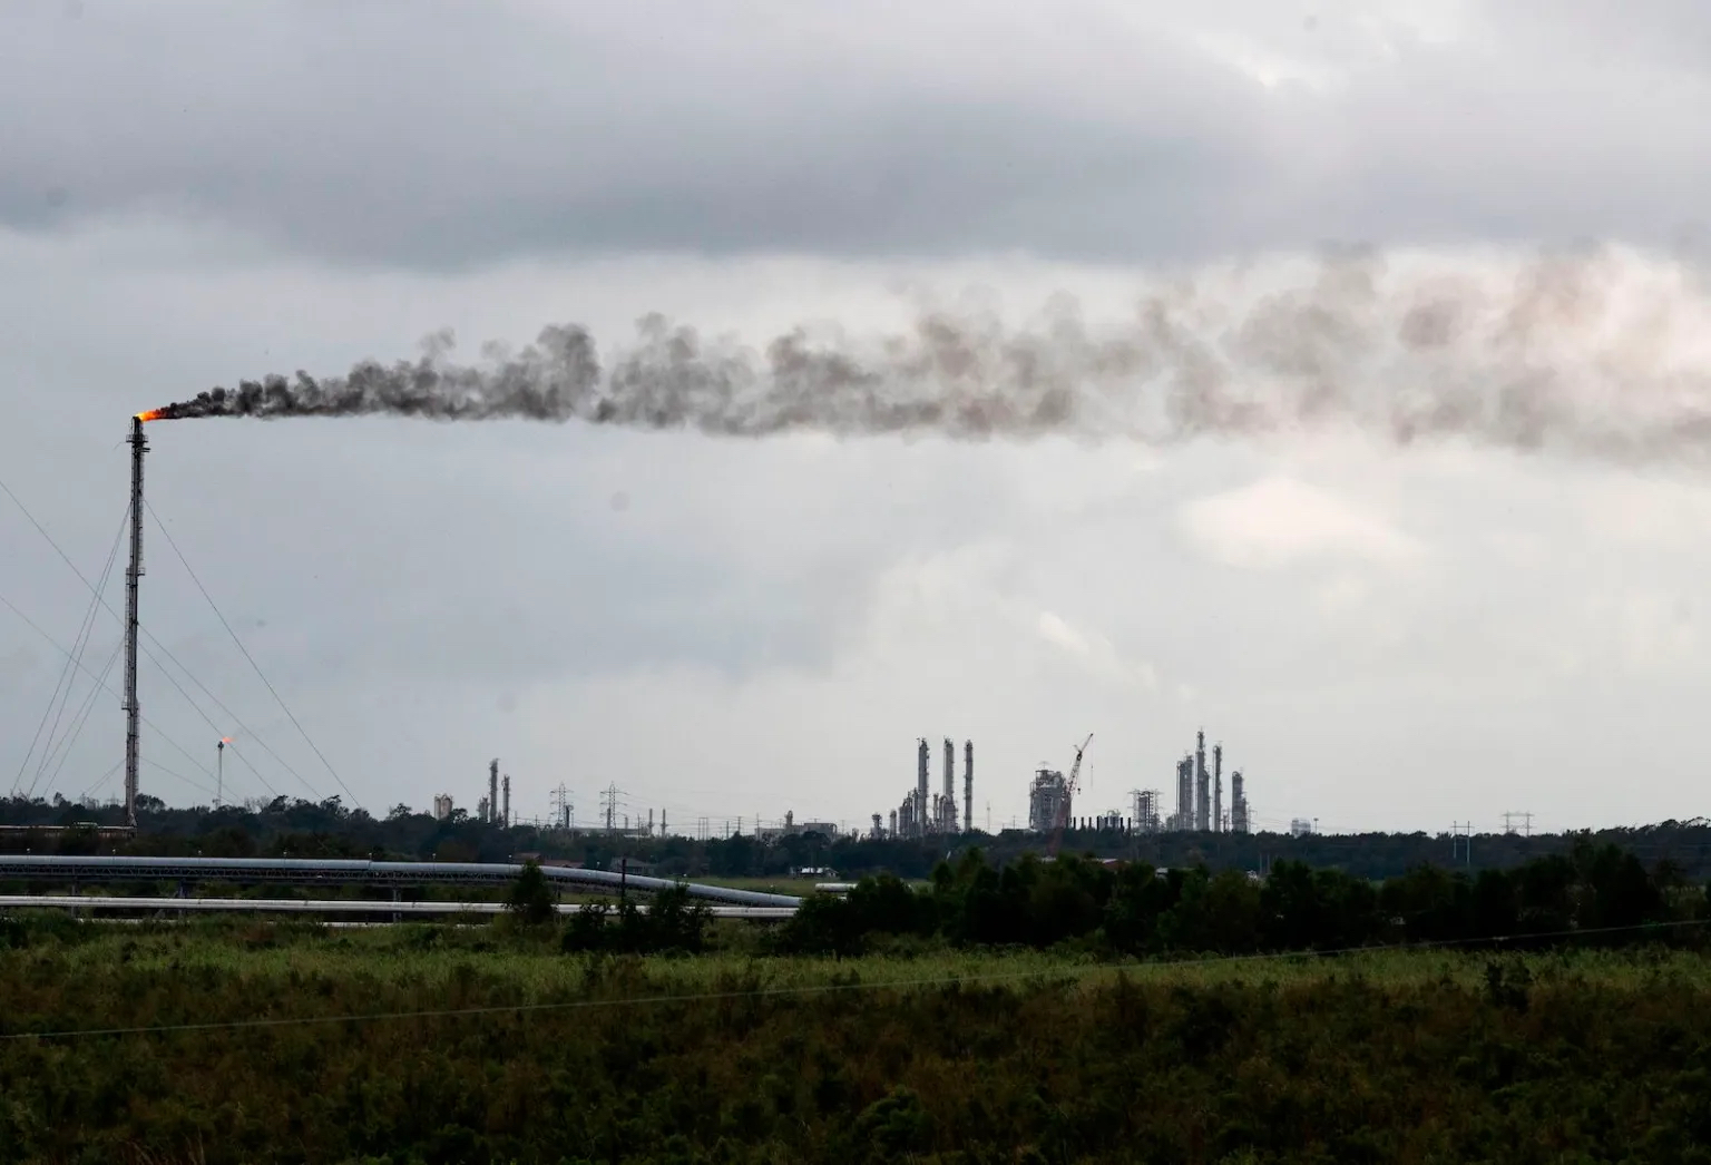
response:
<path fill-rule="evenodd" d="M 0 929 L 5 1162 L 1711 1162 L 1711 958 Z M 142 1028 L 113 1035 L 70 1035 Z"/>

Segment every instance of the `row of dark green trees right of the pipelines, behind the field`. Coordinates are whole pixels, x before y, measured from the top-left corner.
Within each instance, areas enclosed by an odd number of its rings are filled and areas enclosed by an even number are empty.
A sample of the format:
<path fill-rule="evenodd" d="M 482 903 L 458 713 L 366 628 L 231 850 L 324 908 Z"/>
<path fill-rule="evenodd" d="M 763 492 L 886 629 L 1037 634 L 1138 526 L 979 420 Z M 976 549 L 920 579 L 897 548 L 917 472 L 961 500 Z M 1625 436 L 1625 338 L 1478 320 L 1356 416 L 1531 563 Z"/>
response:
<path fill-rule="evenodd" d="M 941 862 L 931 884 L 864 878 L 814 895 L 777 949 L 861 955 L 905 936 L 967 946 L 1083 944 L 1122 955 L 1331 951 L 1401 943 L 1540 946 L 1696 941 L 1706 886 L 1579 838 L 1566 854 L 1473 874 L 1418 866 L 1374 883 L 1280 860 L 1264 878 L 1205 866 L 1160 869 L 1083 857 L 992 864 L 979 850 Z"/>

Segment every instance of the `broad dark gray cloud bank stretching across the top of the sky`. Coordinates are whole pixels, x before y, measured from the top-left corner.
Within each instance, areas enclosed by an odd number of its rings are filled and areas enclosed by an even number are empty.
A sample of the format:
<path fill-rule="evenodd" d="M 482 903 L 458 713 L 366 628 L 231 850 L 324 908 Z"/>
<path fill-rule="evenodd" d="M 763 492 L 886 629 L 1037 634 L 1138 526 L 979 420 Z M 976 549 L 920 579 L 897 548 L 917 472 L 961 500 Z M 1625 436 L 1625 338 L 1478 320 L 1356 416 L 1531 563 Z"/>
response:
<path fill-rule="evenodd" d="M 1088 0 L 1051 21 L 15 5 L 0 222 L 183 216 L 330 262 L 443 269 L 636 250 L 1187 258 L 1323 238 L 1667 240 L 1697 221 L 1696 10 L 1470 12 L 1427 39 L 1382 9 L 1309 29 L 1234 3 Z M 1268 60 L 1317 87 L 1268 89 Z"/>

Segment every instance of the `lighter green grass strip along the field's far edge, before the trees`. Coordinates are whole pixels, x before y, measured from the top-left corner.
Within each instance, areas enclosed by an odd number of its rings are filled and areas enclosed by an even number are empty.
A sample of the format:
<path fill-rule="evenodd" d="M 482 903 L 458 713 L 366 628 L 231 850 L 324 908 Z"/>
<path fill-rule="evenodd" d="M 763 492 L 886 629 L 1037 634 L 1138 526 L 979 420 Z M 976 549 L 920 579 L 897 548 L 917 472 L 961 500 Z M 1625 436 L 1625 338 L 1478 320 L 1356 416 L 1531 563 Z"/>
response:
<path fill-rule="evenodd" d="M 3 967 L 68 975 L 214 972 L 236 979 L 329 979 L 380 984 L 445 984 L 469 973 L 503 980 L 530 999 L 558 997 L 587 982 L 590 965 L 621 963 L 635 984 L 672 992 L 712 989 L 732 979 L 767 989 L 900 984 L 910 987 L 1015 984 L 1039 980 L 1109 984 L 1119 977 L 1148 984 L 1300 984 L 1364 979 L 1374 984 L 1483 982 L 1494 958 L 1525 967 L 1540 984 L 1591 982 L 1643 989 L 1673 982 L 1711 991 L 1711 958 L 1692 951 L 1651 953 L 1562 949 L 1526 956 L 1489 951 L 1377 949 L 1353 955 L 1263 955 L 1112 961 L 1061 951 L 927 948 L 919 953 L 864 955 L 856 960 L 775 958 L 756 953 L 753 927 L 715 925 L 715 949 L 698 956 L 655 955 L 611 960 L 561 955 L 553 936 L 505 934 L 500 927 L 404 924 L 327 929 L 313 924 L 192 919 L 185 924 L 67 924 L 48 927 L 53 941 L 9 951 Z M 67 941 L 68 939 L 68 941 Z"/>

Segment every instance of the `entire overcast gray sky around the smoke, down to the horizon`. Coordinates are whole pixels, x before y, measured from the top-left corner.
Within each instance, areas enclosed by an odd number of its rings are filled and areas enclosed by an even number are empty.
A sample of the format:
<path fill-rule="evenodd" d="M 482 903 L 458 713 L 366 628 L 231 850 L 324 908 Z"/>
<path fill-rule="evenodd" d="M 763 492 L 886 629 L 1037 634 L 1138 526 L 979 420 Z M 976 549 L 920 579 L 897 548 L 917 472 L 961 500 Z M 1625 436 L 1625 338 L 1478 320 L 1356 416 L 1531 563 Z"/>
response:
<path fill-rule="evenodd" d="M 1706 108 L 1692 0 L 7 3 L 0 482 L 96 580 L 127 417 L 241 376 L 440 327 L 472 352 L 578 322 L 614 351 L 648 311 L 753 344 L 924 305 L 1122 320 L 1158 287 L 1311 279 L 1328 245 L 1386 287 L 1591 250 L 1530 359 L 1584 335 L 1646 400 L 1702 393 Z M 498 756 L 522 816 L 563 784 L 578 821 L 616 785 L 691 830 L 866 826 L 915 737 L 938 787 L 953 736 L 998 826 L 1088 732 L 1093 813 L 1170 789 L 1205 727 L 1266 826 L 1706 809 L 1697 446 L 149 436 L 151 506 L 327 761 L 151 520 L 151 652 L 193 676 L 142 669 L 144 789 L 171 802 L 209 799 L 226 734 L 234 795 L 472 807 Z M 113 695 L 63 765 L 31 751 L 89 592 L 3 494 L 0 547 L 0 785 L 108 795 Z M 99 612 L 91 671 L 118 633 Z"/>

